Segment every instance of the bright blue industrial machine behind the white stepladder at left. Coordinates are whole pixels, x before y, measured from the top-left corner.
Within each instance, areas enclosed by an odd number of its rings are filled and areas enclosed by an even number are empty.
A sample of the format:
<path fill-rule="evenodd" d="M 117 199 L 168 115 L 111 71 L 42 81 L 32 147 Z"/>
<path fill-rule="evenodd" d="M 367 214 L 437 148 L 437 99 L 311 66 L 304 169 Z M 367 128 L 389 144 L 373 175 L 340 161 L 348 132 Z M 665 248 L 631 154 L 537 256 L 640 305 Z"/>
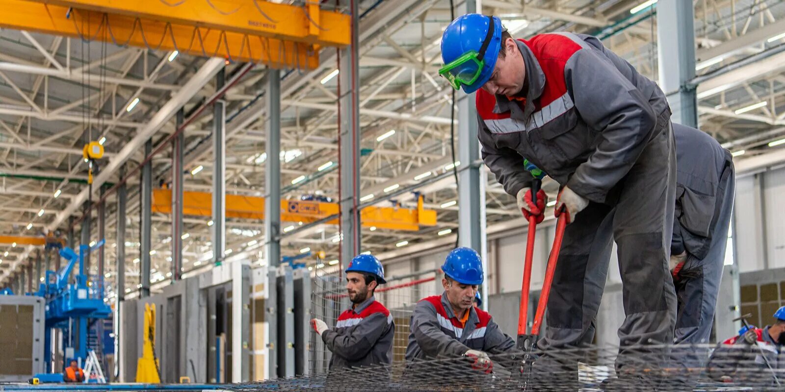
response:
<path fill-rule="evenodd" d="M 44 358 L 46 368 L 51 369 L 52 361 L 52 329 L 62 331 L 65 353 L 65 365 L 75 359 L 84 365 L 88 357 L 88 336 L 93 329 L 93 324 L 99 320 L 109 318 L 111 307 L 104 303 L 104 277 L 96 276 L 89 279 L 85 271 L 85 256 L 91 250 L 104 245 L 104 240 L 99 241 L 90 249 L 87 245 L 79 247 L 79 255 L 73 249 L 64 247 L 60 249 L 60 256 L 68 263 L 65 267 L 55 272 L 46 271 L 46 280 L 38 286 L 34 296 L 46 299 L 46 333 L 44 344 Z M 79 273 L 75 274 L 73 283 L 69 282 L 71 272 L 79 263 Z M 103 322 L 103 321 L 100 321 Z M 94 332 L 93 332 L 94 335 Z M 42 382 L 62 381 L 62 375 L 35 375 Z"/>

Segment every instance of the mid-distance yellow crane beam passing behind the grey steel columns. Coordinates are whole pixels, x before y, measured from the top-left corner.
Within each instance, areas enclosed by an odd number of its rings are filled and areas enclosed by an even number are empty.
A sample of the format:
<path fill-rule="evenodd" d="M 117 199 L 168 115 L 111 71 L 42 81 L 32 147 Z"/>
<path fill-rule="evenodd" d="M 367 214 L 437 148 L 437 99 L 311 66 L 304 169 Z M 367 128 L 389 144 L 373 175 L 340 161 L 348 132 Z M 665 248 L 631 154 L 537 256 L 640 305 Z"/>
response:
<path fill-rule="evenodd" d="M 212 216 L 212 194 L 208 192 L 184 192 L 183 213 L 191 216 Z M 360 211 L 363 227 L 378 227 L 392 230 L 420 230 L 420 226 L 436 226 L 436 211 L 424 209 L 422 196 L 418 198 L 417 209 L 395 207 L 366 207 Z M 152 193 L 152 212 L 170 214 L 172 212 L 172 191 L 156 189 Z M 283 222 L 311 223 L 338 214 L 337 203 L 320 201 L 281 201 L 281 220 Z M 226 195 L 226 216 L 232 218 L 265 219 L 265 198 Z M 338 224 L 338 218 L 327 224 Z"/>

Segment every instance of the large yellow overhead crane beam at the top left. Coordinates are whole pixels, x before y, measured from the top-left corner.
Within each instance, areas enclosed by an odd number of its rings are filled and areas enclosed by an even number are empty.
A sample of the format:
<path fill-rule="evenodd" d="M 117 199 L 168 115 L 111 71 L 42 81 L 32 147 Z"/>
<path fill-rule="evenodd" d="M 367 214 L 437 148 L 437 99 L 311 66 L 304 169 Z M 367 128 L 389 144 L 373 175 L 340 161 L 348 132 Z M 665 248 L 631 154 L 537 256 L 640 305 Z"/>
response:
<path fill-rule="evenodd" d="M 82 2 L 90 3 L 91 1 L 82 0 Z M 246 18 L 243 25 L 237 26 L 221 24 L 221 18 L 217 16 L 226 15 L 223 15 L 225 13 L 223 8 L 218 9 L 218 5 L 215 3 L 217 0 L 212 0 L 212 2 L 188 0 L 179 3 L 155 0 L 159 5 L 169 8 L 170 15 L 177 14 L 178 16 L 177 18 L 170 17 L 167 20 L 148 19 L 147 15 L 139 12 L 131 13 L 128 10 L 130 5 L 147 6 L 145 4 L 148 2 L 144 0 L 136 2 L 127 0 L 125 2 L 109 2 L 108 0 L 99 2 L 95 0 L 92 2 L 111 3 L 120 7 L 122 13 L 45 4 L 43 0 L 0 0 L 0 9 L 2 9 L 0 27 L 113 42 L 118 45 L 166 51 L 177 50 L 180 53 L 188 53 L 193 56 L 224 57 L 227 60 L 262 63 L 275 68 L 288 67 L 305 70 L 318 67 L 318 51 L 321 45 L 341 46 L 349 43 L 349 17 L 341 13 L 321 11 L 318 5 L 315 8 L 314 5 L 309 4 L 303 8 L 258 0 L 256 2 L 243 0 L 243 9 L 248 12 L 244 15 Z M 254 5 L 253 15 L 247 9 L 246 2 Z M 62 1 L 62 3 L 79 2 Z M 128 4 L 121 7 L 124 3 Z M 149 3 L 152 4 L 152 0 Z M 202 7 L 197 6 L 202 3 Z M 213 9 L 211 4 L 216 5 L 216 9 Z M 181 14 L 190 18 L 196 17 L 194 15 L 201 15 L 196 11 L 187 11 L 188 7 L 184 7 L 184 5 L 190 5 L 196 9 L 209 7 L 210 12 L 217 16 L 212 19 L 208 18 L 207 24 L 195 20 L 191 20 L 191 24 L 173 23 L 171 20 L 184 20 L 181 18 Z M 221 2 L 220 5 L 226 7 L 227 3 Z M 261 16 L 261 13 L 255 10 L 256 5 L 276 23 L 271 23 L 267 18 Z M 238 3 L 235 2 L 234 6 L 236 8 Z M 104 9 L 108 8 L 104 7 Z M 233 11 L 234 9 L 228 10 Z M 270 12 L 267 13 L 267 10 Z M 232 15 L 235 15 L 235 20 L 232 23 L 239 23 L 239 10 Z M 302 27 L 303 20 L 294 19 L 298 17 L 307 20 L 309 26 Z M 265 23 L 260 23 L 257 26 L 254 20 L 260 18 L 265 20 Z M 311 20 L 314 20 L 316 24 Z M 204 20 L 202 21 L 204 22 Z M 250 28 L 249 25 L 253 28 Z"/>

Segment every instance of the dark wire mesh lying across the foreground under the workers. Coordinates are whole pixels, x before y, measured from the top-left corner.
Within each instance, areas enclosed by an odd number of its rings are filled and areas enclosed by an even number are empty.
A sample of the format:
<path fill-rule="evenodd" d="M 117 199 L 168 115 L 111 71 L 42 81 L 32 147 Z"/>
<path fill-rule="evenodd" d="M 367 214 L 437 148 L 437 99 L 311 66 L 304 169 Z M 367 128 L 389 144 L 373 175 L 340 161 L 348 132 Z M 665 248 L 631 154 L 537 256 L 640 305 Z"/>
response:
<path fill-rule="evenodd" d="M 492 372 L 473 368 L 471 358 L 439 358 L 390 366 L 352 368 L 309 377 L 269 380 L 227 386 L 227 390 L 247 392 L 276 390 L 339 391 L 720 391 L 783 390 L 779 383 L 785 370 L 778 368 L 778 355 L 761 360 L 761 348 L 740 345 L 715 355 L 699 367 L 682 366 L 679 350 L 708 353 L 711 347 L 645 346 L 624 347 L 624 365 L 611 376 L 602 363 L 619 363 L 619 347 L 584 347 L 568 350 L 535 351 L 491 355 Z M 531 358 L 528 360 L 527 358 Z M 589 361 L 587 358 L 597 358 Z M 780 363 L 782 363 L 780 361 Z"/>

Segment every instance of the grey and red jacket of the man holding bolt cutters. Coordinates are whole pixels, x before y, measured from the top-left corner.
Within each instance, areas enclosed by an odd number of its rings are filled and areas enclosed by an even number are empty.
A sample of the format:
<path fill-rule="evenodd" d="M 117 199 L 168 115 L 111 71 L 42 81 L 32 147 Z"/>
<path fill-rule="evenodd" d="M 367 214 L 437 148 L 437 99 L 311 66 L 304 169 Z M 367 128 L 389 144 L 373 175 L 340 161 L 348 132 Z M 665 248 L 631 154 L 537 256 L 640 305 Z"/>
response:
<path fill-rule="evenodd" d="M 531 186 L 528 158 L 575 193 L 610 204 L 670 122 L 665 94 L 590 35 L 538 34 L 518 49 L 526 65 L 519 95 L 476 93 L 485 164 L 513 196 Z"/>

